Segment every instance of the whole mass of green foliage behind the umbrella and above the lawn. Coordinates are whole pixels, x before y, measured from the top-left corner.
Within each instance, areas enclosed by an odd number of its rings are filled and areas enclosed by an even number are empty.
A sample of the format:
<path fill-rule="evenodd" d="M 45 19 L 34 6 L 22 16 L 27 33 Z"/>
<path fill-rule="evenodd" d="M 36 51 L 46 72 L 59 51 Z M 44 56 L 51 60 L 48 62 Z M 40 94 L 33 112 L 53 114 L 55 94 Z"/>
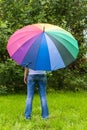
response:
<path fill-rule="evenodd" d="M 8 91 L 18 91 L 19 86 L 24 90 L 23 69 L 9 60 L 6 45 L 17 29 L 38 22 L 65 28 L 79 43 L 77 60 L 67 69 L 48 74 L 48 86 L 73 90 L 78 87 L 86 88 L 87 38 L 83 33 L 87 26 L 86 0 L 0 0 L 0 85 L 6 86 Z"/>

